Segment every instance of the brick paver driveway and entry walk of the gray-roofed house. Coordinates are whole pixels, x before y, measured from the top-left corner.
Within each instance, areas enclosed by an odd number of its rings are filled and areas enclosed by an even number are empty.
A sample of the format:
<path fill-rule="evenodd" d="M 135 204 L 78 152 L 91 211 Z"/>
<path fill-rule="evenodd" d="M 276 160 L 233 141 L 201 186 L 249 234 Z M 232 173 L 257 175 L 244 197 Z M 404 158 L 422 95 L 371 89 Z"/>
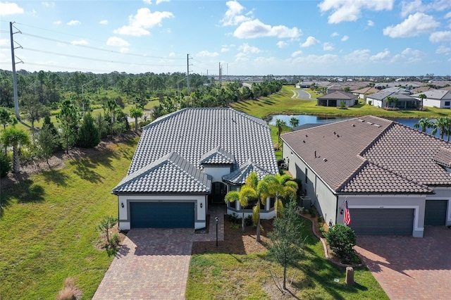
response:
<path fill-rule="evenodd" d="M 192 242 L 224 240 L 224 206 L 209 208 L 208 234 L 185 228 L 128 232 L 93 299 L 185 299 Z"/>

